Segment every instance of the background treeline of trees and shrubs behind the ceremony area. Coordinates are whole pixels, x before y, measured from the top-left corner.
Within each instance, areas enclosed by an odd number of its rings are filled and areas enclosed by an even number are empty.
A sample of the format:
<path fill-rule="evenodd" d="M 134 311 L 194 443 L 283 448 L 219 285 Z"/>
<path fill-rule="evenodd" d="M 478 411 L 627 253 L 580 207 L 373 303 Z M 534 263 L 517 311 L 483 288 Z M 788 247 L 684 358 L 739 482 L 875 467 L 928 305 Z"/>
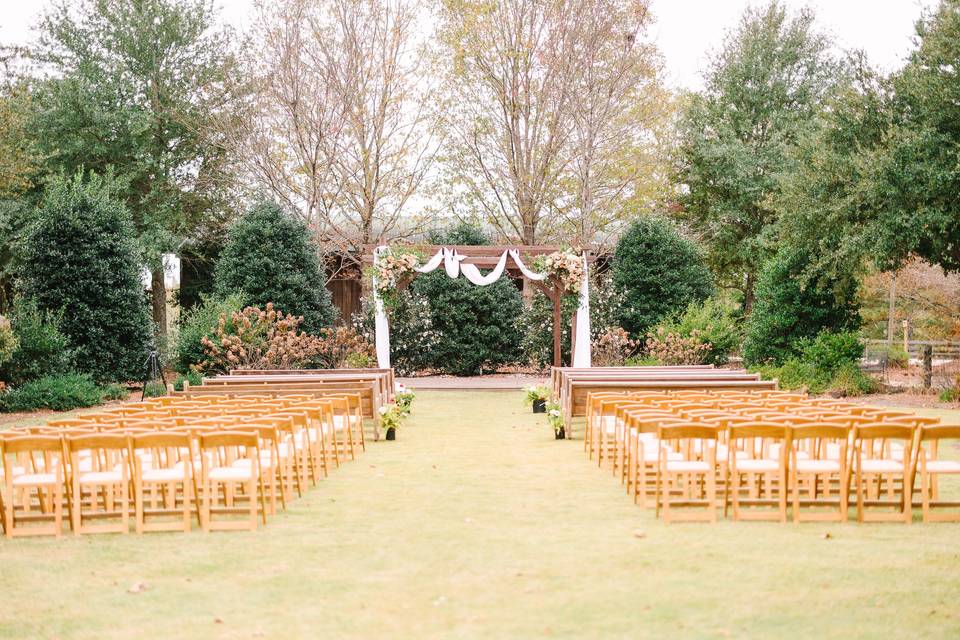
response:
<path fill-rule="evenodd" d="M 605 362 L 733 354 L 824 386 L 844 367 L 817 349 L 849 364 L 891 307 L 956 336 L 960 2 L 889 75 L 770 2 L 695 93 L 664 84 L 655 9 L 283 0 L 236 33 L 208 0 L 55 2 L 0 51 L 4 380 L 135 379 L 151 342 L 184 374 L 284 340 L 287 363 L 363 362 L 369 314 L 329 329 L 324 284 L 404 239 L 598 247 Z M 194 276 L 172 335 L 165 253 Z M 542 365 L 549 322 L 532 288 L 419 278 L 396 362 Z"/>

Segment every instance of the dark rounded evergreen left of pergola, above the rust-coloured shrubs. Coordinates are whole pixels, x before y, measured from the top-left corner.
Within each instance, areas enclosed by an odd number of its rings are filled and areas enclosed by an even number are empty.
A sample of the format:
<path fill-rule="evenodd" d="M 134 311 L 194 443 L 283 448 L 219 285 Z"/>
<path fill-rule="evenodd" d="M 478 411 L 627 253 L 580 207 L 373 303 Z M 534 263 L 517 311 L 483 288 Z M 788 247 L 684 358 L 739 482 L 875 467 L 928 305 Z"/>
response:
<path fill-rule="evenodd" d="M 303 316 L 302 328 L 310 333 L 333 324 L 337 315 L 306 225 L 274 202 L 255 205 L 230 227 L 214 291 L 220 298 L 242 291 L 244 306 L 272 302 L 286 314 Z"/>

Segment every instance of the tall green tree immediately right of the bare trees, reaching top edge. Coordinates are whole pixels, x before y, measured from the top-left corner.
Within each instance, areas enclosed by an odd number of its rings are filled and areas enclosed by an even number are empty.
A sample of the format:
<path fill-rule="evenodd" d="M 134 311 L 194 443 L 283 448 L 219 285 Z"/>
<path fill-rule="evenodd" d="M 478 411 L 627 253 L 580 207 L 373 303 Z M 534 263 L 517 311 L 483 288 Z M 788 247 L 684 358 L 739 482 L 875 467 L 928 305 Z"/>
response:
<path fill-rule="evenodd" d="M 679 217 L 707 247 L 721 284 L 743 294 L 749 314 L 777 221 L 770 205 L 789 151 L 816 117 L 840 71 L 814 16 L 790 16 L 774 0 L 748 9 L 713 58 L 706 88 L 681 123 Z"/>

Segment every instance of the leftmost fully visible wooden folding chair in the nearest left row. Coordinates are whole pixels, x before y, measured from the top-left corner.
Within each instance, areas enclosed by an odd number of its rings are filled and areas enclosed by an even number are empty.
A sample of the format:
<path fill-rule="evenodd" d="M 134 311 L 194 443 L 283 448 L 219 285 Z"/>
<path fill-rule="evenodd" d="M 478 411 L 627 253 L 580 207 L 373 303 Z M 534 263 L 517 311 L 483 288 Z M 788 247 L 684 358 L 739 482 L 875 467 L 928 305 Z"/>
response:
<path fill-rule="evenodd" d="M 6 490 L 3 497 L 6 537 L 52 535 L 59 538 L 63 533 L 66 482 L 60 437 L 7 436 L 0 441 L 0 447 Z M 26 523 L 37 522 L 47 524 L 26 526 Z"/>

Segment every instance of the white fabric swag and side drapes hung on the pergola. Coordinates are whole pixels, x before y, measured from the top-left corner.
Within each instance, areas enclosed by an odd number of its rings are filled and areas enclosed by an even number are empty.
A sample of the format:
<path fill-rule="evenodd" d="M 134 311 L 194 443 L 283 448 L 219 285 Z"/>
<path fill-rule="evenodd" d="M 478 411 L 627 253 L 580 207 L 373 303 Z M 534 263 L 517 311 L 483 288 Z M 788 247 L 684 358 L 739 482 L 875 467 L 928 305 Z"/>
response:
<path fill-rule="evenodd" d="M 380 255 L 387 250 L 387 247 L 377 247 L 373 252 L 373 264 L 376 265 L 380 260 Z M 480 269 L 473 264 L 463 264 L 466 256 L 457 253 L 455 249 L 440 249 L 426 264 L 422 267 L 416 267 L 418 273 L 430 273 L 443 265 L 444 271 L 451 278 L 458 278 L 463 275 L 471 283 L 478 287 L 485 287 L 493 284 L 503 275 L 507 268 L 507 258 L 511 258 L 520 273 L 530 280 L 543 281 L 547 279 L 547 274 L 530 271 L 523 260 L 520 259 L 520 252 L 516 249 L 504 251 L 497 261 L 497 266 L 490 273 L 483 275 Z M 390 323 L 387 320 L 387 312 L 383 306 L 383 299 L 380 297 L 380 289 L 377 287 L 377 278 L 373 278 L 373 299 L 376 309 L 374 331 L 377 350 L 377 366 L 382 369 L 390 368 Z M 573 353 L 573 366 L 590 366 L 590 284 L 587 277 L 587 258 L 583 257 L 583 279 L 580 281 L 580 304 L 577 306 L 577 329 L 576 343 Z"/>

